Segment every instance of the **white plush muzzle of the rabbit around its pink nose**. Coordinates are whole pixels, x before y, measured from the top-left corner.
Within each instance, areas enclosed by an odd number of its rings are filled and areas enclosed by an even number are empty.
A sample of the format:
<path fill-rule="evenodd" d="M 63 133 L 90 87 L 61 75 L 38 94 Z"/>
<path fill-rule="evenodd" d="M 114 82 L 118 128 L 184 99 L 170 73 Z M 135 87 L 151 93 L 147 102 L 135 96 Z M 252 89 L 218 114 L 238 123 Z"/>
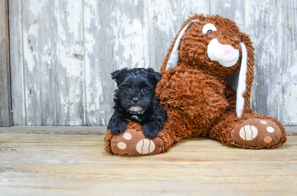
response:
<path fill-rule="evenodd" d="M 239 50 L 233 48 L 232 53 L 225 55 L 223 45 L 214 38 L 208 44 L 207 56 L 210 60 L 217 61 L 224 67 L 231 67 L 234 66 L 239 59 Z"/>

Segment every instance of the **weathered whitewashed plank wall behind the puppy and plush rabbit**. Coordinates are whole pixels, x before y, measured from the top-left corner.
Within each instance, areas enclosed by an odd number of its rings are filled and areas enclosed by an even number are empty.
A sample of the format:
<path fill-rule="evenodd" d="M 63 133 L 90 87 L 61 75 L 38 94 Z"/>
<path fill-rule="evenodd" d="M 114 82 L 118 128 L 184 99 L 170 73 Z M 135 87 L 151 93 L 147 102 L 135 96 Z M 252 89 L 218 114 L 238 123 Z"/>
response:
<path fill-rule="evenodd" d="M 112 71 L 159 70 L 183 21 L 220 14 L 255 47 L 252 109 L 297 125 L 297 0 L 9 0 L 15 125 L 104 126 Z M 238 75 L 229 82 L 237 85 Z"/>

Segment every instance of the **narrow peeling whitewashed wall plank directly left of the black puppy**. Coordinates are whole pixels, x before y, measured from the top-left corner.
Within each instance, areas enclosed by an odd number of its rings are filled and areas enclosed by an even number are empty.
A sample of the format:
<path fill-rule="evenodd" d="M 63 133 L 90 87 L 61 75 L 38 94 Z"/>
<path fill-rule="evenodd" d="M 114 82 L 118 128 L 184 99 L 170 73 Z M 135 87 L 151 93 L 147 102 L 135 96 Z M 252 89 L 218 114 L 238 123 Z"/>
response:
<path fill-rule="evenodd" d="M 85 125 L 104 126 L 113 111 L 115 85 L 110 73 L 114 65 L 112 12 L 115 1 L 85 1 L 84 47 L 85 47 Z M 108 109 L 109 108 L 109 109 Z"/>

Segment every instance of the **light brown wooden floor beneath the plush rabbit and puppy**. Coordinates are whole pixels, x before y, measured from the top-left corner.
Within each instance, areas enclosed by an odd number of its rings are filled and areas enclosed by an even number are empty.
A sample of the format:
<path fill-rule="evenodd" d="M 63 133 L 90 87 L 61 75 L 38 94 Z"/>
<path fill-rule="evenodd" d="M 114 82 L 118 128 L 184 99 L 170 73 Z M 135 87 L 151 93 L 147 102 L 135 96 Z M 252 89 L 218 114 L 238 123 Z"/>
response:
<path fill-rule="evenodd" d="M 0 127 L 0 195 L 297 195 L 297 127 L 277 149 L 200 137 L 137 157 L 106 153 L 105 129 Z"/>

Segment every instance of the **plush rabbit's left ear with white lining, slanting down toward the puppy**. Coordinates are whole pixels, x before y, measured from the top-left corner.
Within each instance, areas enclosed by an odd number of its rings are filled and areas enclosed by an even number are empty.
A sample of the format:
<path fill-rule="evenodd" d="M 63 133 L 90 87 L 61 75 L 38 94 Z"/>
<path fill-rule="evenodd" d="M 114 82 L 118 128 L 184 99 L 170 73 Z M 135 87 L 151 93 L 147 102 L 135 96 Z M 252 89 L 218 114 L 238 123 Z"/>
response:
<path fill-rule="evenodd" d="M 168 54 L 164 58 L 163 65 L 161 66 L 160 72 L 163 73 L 166 70 L 169 70 L 177 65 L 179 63 L 179 44 L 184 36 L 185 32 L 191 27 L 193 22 L 199 21 L 199 18 L 204 17 L 202 14 L 197 15 L 195 14 L 193 17 L 189 18 L 185 23 L 182 25 L 181 30 L 179 33 L 175 36 L 174 41 L 172 42 Z"/>

